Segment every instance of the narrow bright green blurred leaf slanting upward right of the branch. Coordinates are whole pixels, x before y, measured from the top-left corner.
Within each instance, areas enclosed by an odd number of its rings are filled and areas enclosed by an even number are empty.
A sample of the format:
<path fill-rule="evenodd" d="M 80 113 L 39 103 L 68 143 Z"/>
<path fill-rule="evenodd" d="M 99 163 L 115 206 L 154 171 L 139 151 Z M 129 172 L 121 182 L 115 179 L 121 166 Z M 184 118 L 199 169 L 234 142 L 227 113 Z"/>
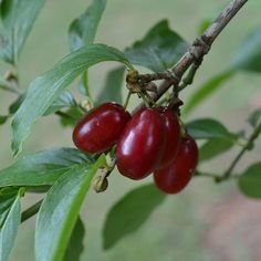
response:
<path fill-rule="evenodd" d="M 186 102 L 185 107 L 182 108 L 182 114 L 190 113 L 195 107 L 208 98 L 215 91 L 217 91 L 223 83 L 226 83 L 233 72 L 225 71 L 221 74 L 218 74 L 202 84 Z"/>

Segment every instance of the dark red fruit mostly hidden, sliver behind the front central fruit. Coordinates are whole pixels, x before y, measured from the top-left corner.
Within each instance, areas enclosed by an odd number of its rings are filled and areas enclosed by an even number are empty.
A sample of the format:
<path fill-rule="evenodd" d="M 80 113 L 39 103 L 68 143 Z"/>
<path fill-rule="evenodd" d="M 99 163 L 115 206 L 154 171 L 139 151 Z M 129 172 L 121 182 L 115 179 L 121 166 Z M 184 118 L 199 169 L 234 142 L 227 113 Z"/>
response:
<path fill-rule="evenodd" d="M 158 169 L 167 167 L 176 158 L 181 140 L 180 125 L 177 116 L 173 111 L 166 107 L 159 107 L 159 113 L 166 128 L 166 145 L 163 158 Z"/>

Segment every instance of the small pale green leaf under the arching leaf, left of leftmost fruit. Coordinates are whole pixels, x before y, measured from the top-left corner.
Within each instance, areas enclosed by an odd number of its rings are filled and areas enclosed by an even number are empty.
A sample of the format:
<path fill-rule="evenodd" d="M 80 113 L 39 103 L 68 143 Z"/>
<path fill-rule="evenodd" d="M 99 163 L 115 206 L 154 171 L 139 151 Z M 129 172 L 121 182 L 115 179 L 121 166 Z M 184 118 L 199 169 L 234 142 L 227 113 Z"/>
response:
<path fill-rule="evenodd" d="M 73 95 L 70 92 L 65 91 L 52 103 L 52 105 L 48 108 L 48 111 L 43 115 L 45 116 L 53 114 L 64 107 L 75 107 L 75 106 L 77 106 L 77 103 L 74 100 Z"/>

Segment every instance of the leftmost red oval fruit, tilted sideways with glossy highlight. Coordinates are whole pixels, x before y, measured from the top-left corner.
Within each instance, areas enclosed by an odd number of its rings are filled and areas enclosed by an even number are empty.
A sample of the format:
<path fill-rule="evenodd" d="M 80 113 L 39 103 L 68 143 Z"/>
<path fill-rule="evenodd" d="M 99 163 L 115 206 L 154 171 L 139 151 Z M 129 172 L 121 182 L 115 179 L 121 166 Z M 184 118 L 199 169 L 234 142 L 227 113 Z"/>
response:
<path fill-rule="evenodd" d="M 86 153 L 103 153 L 118 140 L 130 114 L 116 103 L 93 108 L 75 126 L 73 142 Z"/>

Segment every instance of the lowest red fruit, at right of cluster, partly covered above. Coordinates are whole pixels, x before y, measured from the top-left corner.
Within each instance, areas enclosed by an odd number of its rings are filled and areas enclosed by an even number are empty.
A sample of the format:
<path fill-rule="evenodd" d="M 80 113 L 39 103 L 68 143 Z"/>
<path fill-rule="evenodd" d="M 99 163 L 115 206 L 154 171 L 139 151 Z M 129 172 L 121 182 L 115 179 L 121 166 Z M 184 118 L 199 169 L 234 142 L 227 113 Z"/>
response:
<path fill-rule="evenodd" d="M 156 186 L 166 194 L 177 194 L 189 182 L 198 164 L 198 146 L 187 135 L 181 139 L 176 159 L 166 168 L 154 173 Z"/>

